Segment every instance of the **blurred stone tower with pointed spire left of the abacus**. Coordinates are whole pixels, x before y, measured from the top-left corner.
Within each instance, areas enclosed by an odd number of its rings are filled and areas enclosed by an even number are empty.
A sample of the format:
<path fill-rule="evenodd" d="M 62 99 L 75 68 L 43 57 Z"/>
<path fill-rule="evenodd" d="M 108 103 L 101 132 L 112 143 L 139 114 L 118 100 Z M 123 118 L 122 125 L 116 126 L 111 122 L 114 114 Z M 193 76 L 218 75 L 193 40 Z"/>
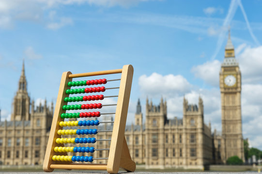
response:
<path fill-rule="evenodd" d="M 18 82 L 18 90 L 13 101 L 13 113 L 11 121 L 30 120 L 30 97 L 27 93 L 27 81 L 25 76 L 25 64 L 23 61 L 22 72 Z"/>

